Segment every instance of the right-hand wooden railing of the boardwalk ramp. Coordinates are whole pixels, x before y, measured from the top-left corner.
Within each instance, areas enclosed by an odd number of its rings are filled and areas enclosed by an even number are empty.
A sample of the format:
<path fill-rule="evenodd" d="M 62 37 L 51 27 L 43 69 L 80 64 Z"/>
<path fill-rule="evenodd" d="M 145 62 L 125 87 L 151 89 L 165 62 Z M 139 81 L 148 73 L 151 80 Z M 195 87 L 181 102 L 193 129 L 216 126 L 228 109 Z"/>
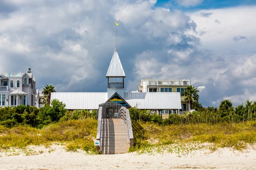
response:
<path fill-rule="evenodd" d="M 117 119 L 123 119 L 125 121 L 125 124 L 127 126 L 127 131 L 128 131 L 130 147 L 132 147 L 134 144 L 134 141 L 133 141 L 134 136 L 133 136 L 133 132 L 132 132 L 131 116 L 129 113 L 129 109 L 127 109 L 125 107 L 120 108 Z"/>

